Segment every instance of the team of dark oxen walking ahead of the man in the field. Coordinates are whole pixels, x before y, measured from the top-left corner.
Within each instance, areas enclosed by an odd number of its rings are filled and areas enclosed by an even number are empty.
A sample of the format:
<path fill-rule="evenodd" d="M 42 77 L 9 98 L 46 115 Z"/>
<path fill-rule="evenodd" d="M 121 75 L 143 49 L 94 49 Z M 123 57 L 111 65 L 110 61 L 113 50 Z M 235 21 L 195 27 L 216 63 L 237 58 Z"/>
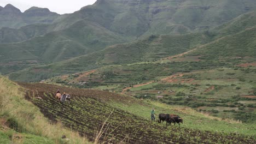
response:
<path fill-rule="evenodd" d="M 178 116 L 178 115 L 174 115 L 174 114 L 165 114 L 165 113 L 159 113 L 158 115 L 158 123 L 161 123 L 166 121 L 166 125 L 170 124 L 172 125 L 172 123 L 174 123 L 174 125 L 176 123 L 183 123 L 183 119 Z M 180 125 L 179 125 L 180 126 Z"/>

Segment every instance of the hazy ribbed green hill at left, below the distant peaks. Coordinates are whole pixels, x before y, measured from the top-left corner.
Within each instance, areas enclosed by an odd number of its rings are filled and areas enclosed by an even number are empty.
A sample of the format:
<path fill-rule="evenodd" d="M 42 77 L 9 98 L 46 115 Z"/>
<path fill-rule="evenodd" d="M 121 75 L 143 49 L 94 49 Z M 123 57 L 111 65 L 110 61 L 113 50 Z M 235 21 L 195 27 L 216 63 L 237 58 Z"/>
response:
<path fill-rule="evenodd" d="M 21 43 L 0 44 L 1 73 L 7 74 L 35 64 L 63 61 L 124 42 L 123 37 L 97 23 L 78 21 L 63 31 L 50 32 Z"/>

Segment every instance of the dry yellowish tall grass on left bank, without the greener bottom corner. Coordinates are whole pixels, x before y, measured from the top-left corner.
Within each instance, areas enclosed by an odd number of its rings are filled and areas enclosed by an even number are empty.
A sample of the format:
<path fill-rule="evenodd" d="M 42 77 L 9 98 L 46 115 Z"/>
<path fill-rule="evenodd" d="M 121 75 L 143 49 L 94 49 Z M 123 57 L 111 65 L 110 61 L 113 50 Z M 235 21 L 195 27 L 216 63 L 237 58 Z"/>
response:
<path fill-rule="evenodd" d="M 60 122 L 50 124 L 38 107 L 25 100 L 24 92 L 25 89 L 0 76 L 0 118 L 16 133 L 46 137 L 54 143 L 90 143 L 78 133 L 63 128 Z M 61 139 L 62 135 L 68 139 Z M 13 142 L 23 143 L 22 140 Z"/>

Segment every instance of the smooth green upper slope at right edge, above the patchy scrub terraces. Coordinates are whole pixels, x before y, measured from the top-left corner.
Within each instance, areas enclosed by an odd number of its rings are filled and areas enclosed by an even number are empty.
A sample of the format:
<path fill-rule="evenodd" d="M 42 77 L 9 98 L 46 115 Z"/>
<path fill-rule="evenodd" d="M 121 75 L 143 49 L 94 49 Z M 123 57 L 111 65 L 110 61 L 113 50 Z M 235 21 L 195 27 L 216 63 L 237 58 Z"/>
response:
<path fill-rule="evenodd" d="M 207 61 L 222 61 L 255 57 L 256 27 L 248 28 L 237 34 L 228 35 L 212 43 L 206 44 L 189 53 L 189 56 L 200 55 Z"/>

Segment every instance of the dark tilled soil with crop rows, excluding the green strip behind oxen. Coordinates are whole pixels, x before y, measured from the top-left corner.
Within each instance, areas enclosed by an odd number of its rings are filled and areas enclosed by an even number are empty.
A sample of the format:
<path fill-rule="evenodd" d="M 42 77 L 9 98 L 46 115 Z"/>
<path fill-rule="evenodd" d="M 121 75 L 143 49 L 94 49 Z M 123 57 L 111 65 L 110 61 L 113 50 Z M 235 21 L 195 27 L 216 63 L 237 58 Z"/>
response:
<path fill-rule="evenodd" d="M 114 93 L 43 83 L 20 85 L 27 89 L 26 98 L 37 105 L 51 122 L 60 121 L 67 128 L 79 131 L 80 135 L 85 135 L 90 140 L 94 140 L 97 130 L 103 128 L 105 131 L 100 140 L 112 143 L 256 143 L 252 136 L 166 127 L 165 124 L 152 123 L 108 105 L 106 101 L 132 101 L 129 97 Z M 56 89 L 71 94 L 71 104 L 57 102 L 54 98 Z"/>

